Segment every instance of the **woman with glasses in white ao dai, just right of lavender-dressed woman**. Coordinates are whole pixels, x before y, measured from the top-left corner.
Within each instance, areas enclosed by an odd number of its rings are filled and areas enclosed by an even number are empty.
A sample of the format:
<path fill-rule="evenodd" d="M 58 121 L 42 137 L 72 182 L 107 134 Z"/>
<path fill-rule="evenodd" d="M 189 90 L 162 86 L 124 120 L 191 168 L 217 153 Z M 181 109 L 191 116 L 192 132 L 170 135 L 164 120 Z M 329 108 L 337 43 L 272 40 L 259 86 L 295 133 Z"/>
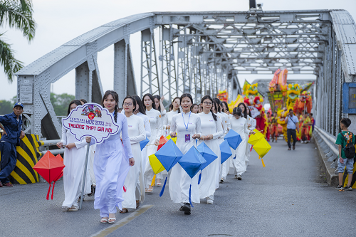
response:
<path fill-rule="evenodd" d="M 137 196 L 136 184 L 140 177 L 141 167 L 141 147 L 140 142 L 146 138 L 145 126 L 141 117 L 133 114 L 133 110 L 136 107 L 136 100 L 130 95 L 122 102 L 122 108 L 125 110 L 125 116 L 127 118 L 128 134 L 130 137 L 131 149 L 133 157 L 135 158 L 135 166 L 130 167 L 130 170 L 125 179 L 125 190 L 122 195 L 124 201 L 122 201 L 122 211 L 120 213 L 128 212 L 127 208 L 136 209 L 137 203 L 140 204 L 141 196 Z M 140 184 L 143 185 L 143 184 Z"/>

